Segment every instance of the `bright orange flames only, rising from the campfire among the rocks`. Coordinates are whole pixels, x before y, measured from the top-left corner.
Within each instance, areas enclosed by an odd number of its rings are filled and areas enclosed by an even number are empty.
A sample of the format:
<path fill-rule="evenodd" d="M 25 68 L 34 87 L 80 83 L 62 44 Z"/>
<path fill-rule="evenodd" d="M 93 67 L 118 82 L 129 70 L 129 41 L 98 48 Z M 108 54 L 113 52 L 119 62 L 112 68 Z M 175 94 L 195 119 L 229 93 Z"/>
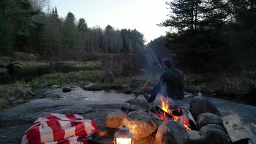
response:
<path fill-rule="evenodd" d="M 165 117 L 165 113 L 167 112 L 169 115 L 171 115 L 173 117 L 173 120 L 174 121 L 178 121 L 178 119 L 181 117 L 181 116 L 175 116 L 172 114 L 172 111 L 169 109 L 169 101 L 168 101 L 168 97 L 166 97 L 166 101 L 164 100 L 163 97 L 160 97 L 160 100 L 161 100 L 161 109 L 164 111 L 164 117 L 162 116 L 159 116 L 159 118 L 163 119 L 164 121 L 167 121 L 166 117 Z M 178 109 L 178 111 L 180 112 L 180 110 Z M 184 121 L 184 127 L 187 129 L 187 130 L 191 130 L 189 128 L 189 124 L 187 121 Z"/>

